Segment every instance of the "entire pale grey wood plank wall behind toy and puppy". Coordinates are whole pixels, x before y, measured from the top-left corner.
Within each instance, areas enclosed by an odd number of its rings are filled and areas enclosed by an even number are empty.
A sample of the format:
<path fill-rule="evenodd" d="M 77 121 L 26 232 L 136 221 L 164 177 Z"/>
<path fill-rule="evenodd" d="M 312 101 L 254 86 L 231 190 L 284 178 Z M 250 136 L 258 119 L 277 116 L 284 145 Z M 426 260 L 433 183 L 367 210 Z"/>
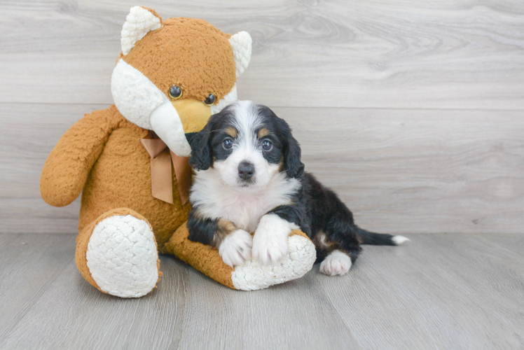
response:
<path fill-rule="evenodd" d="M 76 231 L 39 175 L 83 113 L 109 106 L 127 1 L 0 2 L 0 232 Z M 524 2 L 142 1 L 254 39 L 239 97 L 294 127 L 306 169 L 357 223 L 522 232 Z"/>

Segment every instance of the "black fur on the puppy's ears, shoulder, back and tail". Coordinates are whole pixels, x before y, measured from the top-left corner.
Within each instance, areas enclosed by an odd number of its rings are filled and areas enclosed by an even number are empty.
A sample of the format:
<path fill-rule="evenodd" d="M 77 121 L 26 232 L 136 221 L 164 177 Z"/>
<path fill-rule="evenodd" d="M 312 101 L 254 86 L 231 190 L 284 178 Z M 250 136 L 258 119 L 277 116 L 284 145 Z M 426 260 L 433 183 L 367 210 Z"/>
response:
<path fill-rule="evenodd" d="M 273 164 L 281 164 L 287 176 L 301 183 L 301 188 L 291 198 L 291 204 L 276 207 L 268 213 L 298 225 L 315 244 L 317 262 L 335 250 L 343 251 L 354 262 L 361 251 L 360 244 L 396 245 L 392 235 L 368 232 L 355 225 L 350 209 L 336 193 L 322 186 L 312 174 L 304 172 L 301 148 L 289 125 L 268 107 L 256 105 L 256 108 L 263 120 L 262 126 L 270 132 L 265 138 L 269 138 L 274 145 L 270 153 L 264 154 L 264 158 Z M 189 162 L 194 169 L 209 169 L 214 160 L 228 157 L 228 151 L 221 147 L 221 143 L 224 137 L 228 137 L 224 130 L 232 125 L 232 118 L 235 118 L 233 111 L 226 108 L 212 116 L 201 132 L 187 135 L 192 149 Z M 218 219 L 201 218 L 198 207 L 193 207 L 188 221 L 189 239 L 212 244 L 217 227 Z"/>

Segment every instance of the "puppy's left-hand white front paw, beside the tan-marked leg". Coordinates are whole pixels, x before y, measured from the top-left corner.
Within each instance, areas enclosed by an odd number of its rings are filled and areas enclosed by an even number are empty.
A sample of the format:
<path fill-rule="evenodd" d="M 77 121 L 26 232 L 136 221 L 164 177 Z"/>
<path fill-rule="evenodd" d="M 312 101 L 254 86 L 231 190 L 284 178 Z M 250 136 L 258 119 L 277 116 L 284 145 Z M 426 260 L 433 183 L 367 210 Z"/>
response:
<path fill-rule="evenodd" d="M 230 267 L 242 265 L 251 258 L 253 237 L 244 230 L 235 230 L 223 239 L 219 246 L 219 254 L 223 262 Z"/>

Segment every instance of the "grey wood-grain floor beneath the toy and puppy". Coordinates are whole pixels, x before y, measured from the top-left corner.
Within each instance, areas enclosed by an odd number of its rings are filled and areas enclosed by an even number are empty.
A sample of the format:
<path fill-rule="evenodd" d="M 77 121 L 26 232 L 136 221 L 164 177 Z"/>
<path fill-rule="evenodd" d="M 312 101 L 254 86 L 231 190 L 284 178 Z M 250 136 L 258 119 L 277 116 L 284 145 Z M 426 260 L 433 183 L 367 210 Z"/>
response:
<path fill-rule="evenodd" d="M 159 288 L 100 293 L 72 235 L 0 235 L 0 349 L 520 349 L 523 235 L 410 235 L 342 277 L 242 292 L 161 257 Z M 25 243 L 25 244 L 23 244 Z"/>

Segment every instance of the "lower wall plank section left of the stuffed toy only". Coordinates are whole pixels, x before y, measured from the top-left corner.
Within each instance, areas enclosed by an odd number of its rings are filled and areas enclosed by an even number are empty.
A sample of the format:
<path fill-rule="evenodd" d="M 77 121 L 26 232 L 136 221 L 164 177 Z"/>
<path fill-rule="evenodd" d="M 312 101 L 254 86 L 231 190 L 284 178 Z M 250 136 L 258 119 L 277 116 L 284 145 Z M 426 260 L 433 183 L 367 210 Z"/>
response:
<path fill-rule="evenodd" d="M 40 174 L 71 125 L 104 105 L 0 104 L 0 232 L 71 233 L 80 200 L 50 207 L 40 197 Z"/>

